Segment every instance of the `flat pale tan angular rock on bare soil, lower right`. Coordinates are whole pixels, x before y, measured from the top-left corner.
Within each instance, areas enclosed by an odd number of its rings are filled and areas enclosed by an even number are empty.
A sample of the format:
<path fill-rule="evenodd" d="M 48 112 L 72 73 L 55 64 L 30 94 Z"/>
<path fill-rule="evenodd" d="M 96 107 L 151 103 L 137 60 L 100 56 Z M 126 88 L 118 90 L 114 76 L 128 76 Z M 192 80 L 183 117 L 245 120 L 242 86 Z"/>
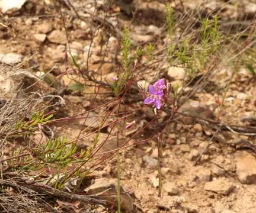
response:
<path fill-rule="evenodd" d="M 211 182 L 206 182 L 204 185 L 204 190 L 215 192 L 220 195 L 228 195 L 228 193 L 231 192 L 234 187 L 235 186 L 233 183 L 226 179 L 217 179 Z"/>

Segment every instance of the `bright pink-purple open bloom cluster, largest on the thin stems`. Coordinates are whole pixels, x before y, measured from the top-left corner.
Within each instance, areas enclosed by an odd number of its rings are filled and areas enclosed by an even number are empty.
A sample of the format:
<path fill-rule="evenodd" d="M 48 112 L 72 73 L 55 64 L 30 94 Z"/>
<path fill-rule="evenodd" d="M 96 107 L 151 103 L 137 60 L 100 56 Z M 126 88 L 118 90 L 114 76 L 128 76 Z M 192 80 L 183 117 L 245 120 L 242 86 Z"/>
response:
<path fill-rule="evenodd" d="M 144 104 L 153 104 L 156 109 L 161 109 L 165 88 L 165 79 L 160 79 L 153 85 L 149 85 L 149 96 L 144 100 Z"/>

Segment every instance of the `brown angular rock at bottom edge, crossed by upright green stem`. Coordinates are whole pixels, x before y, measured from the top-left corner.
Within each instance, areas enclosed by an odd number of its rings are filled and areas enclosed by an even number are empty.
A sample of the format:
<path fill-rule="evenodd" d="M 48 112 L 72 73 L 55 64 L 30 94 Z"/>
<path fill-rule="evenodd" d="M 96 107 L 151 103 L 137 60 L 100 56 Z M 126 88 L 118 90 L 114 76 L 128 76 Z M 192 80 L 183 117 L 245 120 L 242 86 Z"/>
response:
<path fill-rule="evenodd" d="M 110 206 L 117 207 L 117 195 L 116 195 L 116 180 L 108 180 L 106 178 L 96 179 L 95 183 L 84 189 L 87 195 L 98 194 L 98 197 L 105 199 Z M 129 193 L 125 192 L 123 186 L 121 186 L 121 209 L 127 212 L 133 211 L 133 200 Z M 104 195 L 104 196 L 101 196 Z M 105 196 L 107 195 L 107 196 Z"/>

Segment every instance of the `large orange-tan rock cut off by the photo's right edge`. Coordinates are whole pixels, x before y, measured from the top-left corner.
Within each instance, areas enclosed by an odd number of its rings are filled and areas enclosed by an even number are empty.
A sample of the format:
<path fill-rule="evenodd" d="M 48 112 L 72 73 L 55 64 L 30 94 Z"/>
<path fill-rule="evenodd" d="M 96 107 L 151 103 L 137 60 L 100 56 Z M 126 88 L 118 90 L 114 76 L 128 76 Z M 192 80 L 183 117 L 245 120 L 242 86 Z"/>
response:
<path fill-rule="evenodd" d="M 239 151 L 235 154 L 236 174 L 244 184 L 256 183 L 256 160 L 247 151 Z"/>

